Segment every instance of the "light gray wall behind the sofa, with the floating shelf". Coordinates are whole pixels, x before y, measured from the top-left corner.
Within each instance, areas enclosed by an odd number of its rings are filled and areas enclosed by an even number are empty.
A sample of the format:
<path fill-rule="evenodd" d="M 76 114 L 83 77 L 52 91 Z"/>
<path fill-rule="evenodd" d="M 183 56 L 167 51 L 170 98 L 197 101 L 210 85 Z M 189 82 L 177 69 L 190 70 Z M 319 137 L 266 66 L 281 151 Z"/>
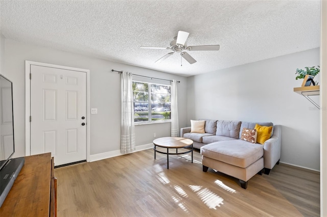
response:
<path fill-rule="evenodd" d="M 189 77 L 188 120 L 283 125 L 281 161 L 319 170 L 319 110 L 293 92 L 296 68 L 317 65 L 319 48 Z"/>

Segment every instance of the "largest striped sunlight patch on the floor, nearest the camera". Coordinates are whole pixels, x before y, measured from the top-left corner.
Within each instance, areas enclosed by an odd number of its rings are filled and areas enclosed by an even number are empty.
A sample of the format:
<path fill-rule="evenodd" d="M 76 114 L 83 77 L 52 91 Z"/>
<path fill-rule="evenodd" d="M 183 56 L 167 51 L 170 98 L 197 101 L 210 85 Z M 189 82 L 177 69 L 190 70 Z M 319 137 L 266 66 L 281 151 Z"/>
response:
<path fill-rule="evenodd" d="M 217 206 L 220 207 L 221 204 L 224 204 L 224 199 L 210 191 L 208 188 L 202 189 L 202 186 L 199 185 L 189 185 L 189 187 L 196 192 L 196 195 L 210 209 L 217 209 Z"/>

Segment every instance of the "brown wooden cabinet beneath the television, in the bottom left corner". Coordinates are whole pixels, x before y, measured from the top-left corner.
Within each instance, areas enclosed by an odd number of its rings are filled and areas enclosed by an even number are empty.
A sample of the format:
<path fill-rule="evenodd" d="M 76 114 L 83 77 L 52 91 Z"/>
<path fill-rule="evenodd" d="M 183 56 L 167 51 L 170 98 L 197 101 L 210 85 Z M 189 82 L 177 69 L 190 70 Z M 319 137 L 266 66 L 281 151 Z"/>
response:
<path fill-rule="evenodd" d="M 57 180 L 51 153 L 25 157 L 0 216 L 56 216 Z"/>

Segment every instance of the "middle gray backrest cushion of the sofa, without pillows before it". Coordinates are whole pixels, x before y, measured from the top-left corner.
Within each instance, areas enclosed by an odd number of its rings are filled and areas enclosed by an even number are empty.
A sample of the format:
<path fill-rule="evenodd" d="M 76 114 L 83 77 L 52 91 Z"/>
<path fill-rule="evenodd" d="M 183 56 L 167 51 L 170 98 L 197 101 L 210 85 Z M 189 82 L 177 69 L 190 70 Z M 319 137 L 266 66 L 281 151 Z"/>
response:
<path fill-rule="evenodd" d="M 240 126 L 241 121 L 217 121 L 216 135 L 239 139 Z"/>

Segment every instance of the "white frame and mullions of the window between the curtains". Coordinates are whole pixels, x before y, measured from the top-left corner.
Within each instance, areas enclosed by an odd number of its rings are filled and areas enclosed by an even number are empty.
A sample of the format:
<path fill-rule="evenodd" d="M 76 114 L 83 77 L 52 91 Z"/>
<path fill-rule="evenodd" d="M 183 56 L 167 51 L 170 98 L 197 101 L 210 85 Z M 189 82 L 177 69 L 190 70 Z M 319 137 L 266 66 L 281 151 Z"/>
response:
<path fill-rule="evenodd" d="M 149 97 L 148 97 L 148 100 L 146 103 L 148 103 L 148 116 L 149 116 L 149 119 L 148 121 L 138 121 L 138 122 L 135 122 L 134 121 L 134 125 L 142 125 L 142 124 L 155 124 L 155 123 L 165 123 L 165 122 L 171 122 L 171 118 L 170 119 L 163 119 L 163 120 L 157 120 L 157 121 L 153 121 L 152 120 L 152 102 L 151 102 L 151 85 L 160 85 L 160 86 L 167 86 L 167 87 L 170 87 L 170 90 L 172 88 L 171 85 L 164 85 L 164 84 L 158 84 L 158 83 L 151 83 L 151 82 L 144 82 L 143 80 L 132 80 L 132 82 L 137 82 L 137 83 L 143 83 L 143 84 L 148 84 L 148 94 L 149 94 Z M 133 104 L 135 105 L 135 102 L 137 101 L 134 101 L 133 100 Z M 171 93 L 170 93 L 170 102 L 171 104 Z M 171 113 L 172 111 L 169 111 L 170 112 L 170 117 L 171 117 Z M 135 119 L 134 119 L 135 120 Z"/>

